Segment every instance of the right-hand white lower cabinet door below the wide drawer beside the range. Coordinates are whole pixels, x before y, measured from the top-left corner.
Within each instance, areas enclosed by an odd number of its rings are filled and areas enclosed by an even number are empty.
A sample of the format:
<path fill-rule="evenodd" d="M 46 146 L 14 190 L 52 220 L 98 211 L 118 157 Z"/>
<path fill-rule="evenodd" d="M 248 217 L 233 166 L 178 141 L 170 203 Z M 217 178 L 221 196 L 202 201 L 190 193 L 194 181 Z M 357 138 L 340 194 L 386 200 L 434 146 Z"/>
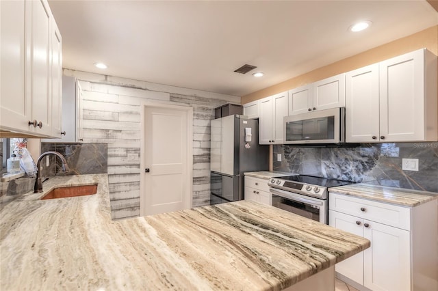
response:
<path fill-rule="evenodd" d="M 409 232 L 374 221 L 363 221 L 364 286 L 371 290 L 411 290 Z"/>

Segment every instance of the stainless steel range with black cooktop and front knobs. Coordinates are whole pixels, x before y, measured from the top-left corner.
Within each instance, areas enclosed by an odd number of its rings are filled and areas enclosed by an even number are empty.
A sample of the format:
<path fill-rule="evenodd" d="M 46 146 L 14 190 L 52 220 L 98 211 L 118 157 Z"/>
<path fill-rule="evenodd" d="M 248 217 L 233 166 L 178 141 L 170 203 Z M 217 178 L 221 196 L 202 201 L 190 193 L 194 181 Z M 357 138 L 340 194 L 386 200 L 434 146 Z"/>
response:
<path fill-rule="evenodd" d="M 328 224 L 328 189 L 353 182 L 307 175 L 271 178 L 272 206 Z"/>

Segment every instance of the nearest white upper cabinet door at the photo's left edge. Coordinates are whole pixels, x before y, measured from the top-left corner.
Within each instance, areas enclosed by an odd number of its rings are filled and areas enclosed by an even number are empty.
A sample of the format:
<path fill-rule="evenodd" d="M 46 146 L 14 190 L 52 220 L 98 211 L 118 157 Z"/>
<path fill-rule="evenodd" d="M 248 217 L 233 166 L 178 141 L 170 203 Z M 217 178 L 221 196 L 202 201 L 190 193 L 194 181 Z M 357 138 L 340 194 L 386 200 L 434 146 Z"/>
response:
<path fill-rule="evenodd" d="M 29 131 L 30 93 L 25 92 L 25 16 L 30 2 L 0 1 L 0 128 Z M 27 23 L 30 27 L 30 24 Z"/>

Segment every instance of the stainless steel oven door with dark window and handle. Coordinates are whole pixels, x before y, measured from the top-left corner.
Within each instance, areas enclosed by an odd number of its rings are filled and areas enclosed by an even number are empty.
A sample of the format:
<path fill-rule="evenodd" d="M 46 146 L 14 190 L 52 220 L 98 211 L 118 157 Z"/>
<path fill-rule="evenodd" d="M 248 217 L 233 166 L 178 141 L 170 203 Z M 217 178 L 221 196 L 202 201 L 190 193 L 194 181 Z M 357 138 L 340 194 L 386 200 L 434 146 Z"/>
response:
<path fill-rule="evenodd" d="M 273 188 L 270 193 L 272 206 L 327 224 L 327 200 Z"/>

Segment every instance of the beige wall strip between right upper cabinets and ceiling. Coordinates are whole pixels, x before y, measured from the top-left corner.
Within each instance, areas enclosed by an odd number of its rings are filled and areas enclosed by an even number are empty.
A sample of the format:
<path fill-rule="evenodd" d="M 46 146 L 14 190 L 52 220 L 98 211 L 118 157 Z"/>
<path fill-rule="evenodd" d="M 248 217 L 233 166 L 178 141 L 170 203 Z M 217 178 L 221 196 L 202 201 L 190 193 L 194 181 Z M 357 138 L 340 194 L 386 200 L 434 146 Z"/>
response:
<path fill-rule="evenodd" d="M 242 96 L 242 104 L 284 92 L 288 89 L 313 83 L 342 72 L 348 72 L 363 66 L 368 66 L 378 61 L 383 61 L 391 57 L 396 57 L 397 55 L 415 51 L 419 48 L 428 48 L 429 51 L 433 52 L 435 55 L 438 55 L 438 25 L 414 33 L 411 36 L 394 40 L 394 42 L 377 46 L 376 48 L 372 48 L 368 51 L 364 51 L 363 53 L 342 59 L 328 66 L 307 72 L 271 87 L 261 89 L 246 96 Z"/>

